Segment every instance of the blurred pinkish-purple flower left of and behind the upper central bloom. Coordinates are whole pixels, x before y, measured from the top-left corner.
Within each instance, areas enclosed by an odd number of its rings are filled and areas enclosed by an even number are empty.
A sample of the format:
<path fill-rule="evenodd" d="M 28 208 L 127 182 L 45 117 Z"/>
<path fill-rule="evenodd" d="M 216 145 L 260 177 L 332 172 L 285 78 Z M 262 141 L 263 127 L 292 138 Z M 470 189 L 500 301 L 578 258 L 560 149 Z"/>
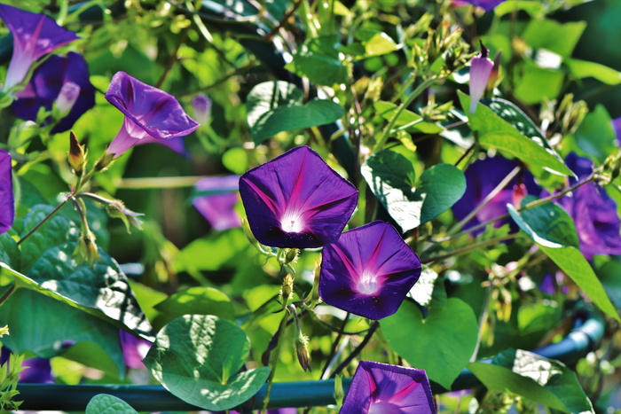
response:
<path fill-rule="evenodd" d="M 233 209 L 240 199 L 240 176 L 214 176 L 203 178 L 194 186 L 206 195 L 195 197 L 192 204 L 216 230 L 241 226 L 240 215 Z"/>

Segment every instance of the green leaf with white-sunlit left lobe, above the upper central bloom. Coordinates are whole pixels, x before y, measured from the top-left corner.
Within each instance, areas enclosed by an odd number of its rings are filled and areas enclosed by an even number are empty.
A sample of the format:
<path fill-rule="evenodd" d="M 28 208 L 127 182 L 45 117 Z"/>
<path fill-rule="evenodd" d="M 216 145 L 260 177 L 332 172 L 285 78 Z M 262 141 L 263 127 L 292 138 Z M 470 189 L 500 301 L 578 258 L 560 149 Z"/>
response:
<path fill-rule="evenodd" d="M 302 92 L 294 84 L 263 82 L 248 94 L 248 124 L 255 144 L 279 132 L 325 125 L 341 119 L 341 105 L 331 100 L 312 99 L 302 104 Z"/>

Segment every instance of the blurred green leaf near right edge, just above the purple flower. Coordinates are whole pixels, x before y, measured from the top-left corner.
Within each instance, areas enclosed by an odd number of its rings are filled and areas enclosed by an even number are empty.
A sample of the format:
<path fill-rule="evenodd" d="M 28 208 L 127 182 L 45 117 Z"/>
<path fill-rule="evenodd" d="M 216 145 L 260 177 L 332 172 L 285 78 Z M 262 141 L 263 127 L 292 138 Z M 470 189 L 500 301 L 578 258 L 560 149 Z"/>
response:
<path fill-rule="evenodd" d="M 595 155 L 601 161 L 618 149 L 612 120 L 603 105 L 596 105 L 592 112 L 586 114 L 574 133 L 574 139 L 582 151 Z"/>

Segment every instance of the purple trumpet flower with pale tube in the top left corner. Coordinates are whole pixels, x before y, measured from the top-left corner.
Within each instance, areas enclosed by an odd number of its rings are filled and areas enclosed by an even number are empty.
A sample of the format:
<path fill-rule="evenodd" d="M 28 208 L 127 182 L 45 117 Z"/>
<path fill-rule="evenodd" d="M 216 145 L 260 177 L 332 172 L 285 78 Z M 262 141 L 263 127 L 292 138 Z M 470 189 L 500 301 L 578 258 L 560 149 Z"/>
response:
<path fill-rule="evenodd" d="M 78 39 L 74 32 L 59 27 L 43 14 L 25 12 L 7 4 L 0 4 L 0 19 L 13 36 L 13 54 L 4 91 L 22 82 L 37 59 Z"/>

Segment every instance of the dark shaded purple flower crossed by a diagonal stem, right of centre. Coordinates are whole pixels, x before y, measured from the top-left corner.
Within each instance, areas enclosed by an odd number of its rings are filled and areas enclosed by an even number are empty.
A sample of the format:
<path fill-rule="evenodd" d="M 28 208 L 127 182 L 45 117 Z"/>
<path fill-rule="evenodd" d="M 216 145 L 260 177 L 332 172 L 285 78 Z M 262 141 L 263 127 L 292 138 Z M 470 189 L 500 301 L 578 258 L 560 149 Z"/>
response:
<path fill-rule="evenodd" d="M 478 207 L 491 191 L 519 164 L 515 160 L 507 160 L 502 157 L 485 158 L 473 162 L 466 172 L 466 192 L 461 199 L 452 206 L 452 213 L 457 220 L 466 218 L 470 212 Z M 483 208 L 481 208 L 472 220 L 464 226 L 464 230 L 485 223 L 500 215 L 507 214 L 507 204 L 520 206 L 526 194 L 538 194 L 537 184 L 528 171 L 523 171 L 500 190 Z M 499 220 L 494 223 L 498 228 L 505 223 L 511 223 L 511 230 L 517 231 L 517 226 L 510 219 Z M 476 230 L 474 234 L 480 234 L 483 229 Z"/>

